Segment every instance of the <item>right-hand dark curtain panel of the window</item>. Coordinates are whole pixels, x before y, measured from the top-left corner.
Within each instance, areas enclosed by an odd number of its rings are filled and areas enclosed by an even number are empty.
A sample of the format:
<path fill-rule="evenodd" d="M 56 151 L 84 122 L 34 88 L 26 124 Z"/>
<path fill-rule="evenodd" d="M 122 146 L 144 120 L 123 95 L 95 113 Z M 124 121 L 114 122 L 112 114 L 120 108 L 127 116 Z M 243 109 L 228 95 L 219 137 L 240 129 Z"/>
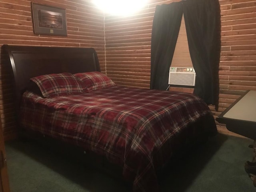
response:
<path fill-rule="evenodd" d="M 216 58 L 217 7 L 215 0 L 186 0 L 183 3 L 188 47 L 196 71 L 194 94 L 207 104 L 214 100 L 214 66 Z"/>

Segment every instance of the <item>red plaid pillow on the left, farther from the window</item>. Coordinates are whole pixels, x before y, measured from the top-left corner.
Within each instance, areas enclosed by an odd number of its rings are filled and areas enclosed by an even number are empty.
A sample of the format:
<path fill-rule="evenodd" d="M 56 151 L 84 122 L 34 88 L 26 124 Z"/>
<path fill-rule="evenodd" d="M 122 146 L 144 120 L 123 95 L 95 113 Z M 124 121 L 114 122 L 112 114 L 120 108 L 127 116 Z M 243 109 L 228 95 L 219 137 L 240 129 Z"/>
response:
<path fill-rule="evenodd" d="M 30 80 L 37 84 L 46 98 L 83 92 L 80 82 L 71 73 L 41 75 Z"/>

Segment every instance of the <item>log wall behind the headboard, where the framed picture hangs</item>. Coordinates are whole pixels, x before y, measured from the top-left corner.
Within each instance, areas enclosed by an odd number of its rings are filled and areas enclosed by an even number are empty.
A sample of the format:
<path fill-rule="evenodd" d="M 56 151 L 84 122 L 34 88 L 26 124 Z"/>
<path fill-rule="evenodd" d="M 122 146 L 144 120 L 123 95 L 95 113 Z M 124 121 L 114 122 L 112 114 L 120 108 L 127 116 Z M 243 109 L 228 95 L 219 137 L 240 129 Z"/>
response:
<path fill-rule="evenodd" d="M 3 44 L 95 48 L 102 72 L 105 67 L 104 14 L 86 0 L 33 0 L 66 9 L 68 36 L 33 33 L 30 0 L 0 1 L 0 47 Z M 0 114 L 5 140 L 17 133 L 14 115 L 12 69 L 8 56 L 0 56 Z"/>

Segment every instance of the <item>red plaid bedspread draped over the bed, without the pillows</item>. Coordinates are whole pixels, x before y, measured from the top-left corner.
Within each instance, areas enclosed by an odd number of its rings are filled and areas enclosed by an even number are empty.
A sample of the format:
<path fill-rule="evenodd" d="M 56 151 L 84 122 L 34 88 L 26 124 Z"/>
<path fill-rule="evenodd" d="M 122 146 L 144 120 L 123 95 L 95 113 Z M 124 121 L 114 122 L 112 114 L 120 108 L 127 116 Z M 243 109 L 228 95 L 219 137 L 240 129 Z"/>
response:
<path fill-rule="evenodd" d="M 170 159 L 182 134 L 202 131 L 188 126 L 204 116 L 212 113 L 192 94 L 113 86 L 53 98 L 25 92 L 20 123 L 122 165 L 134 191 L 158 191 L 156 168 Z M 214 120 L 203 131 L 216 132 Z"/>

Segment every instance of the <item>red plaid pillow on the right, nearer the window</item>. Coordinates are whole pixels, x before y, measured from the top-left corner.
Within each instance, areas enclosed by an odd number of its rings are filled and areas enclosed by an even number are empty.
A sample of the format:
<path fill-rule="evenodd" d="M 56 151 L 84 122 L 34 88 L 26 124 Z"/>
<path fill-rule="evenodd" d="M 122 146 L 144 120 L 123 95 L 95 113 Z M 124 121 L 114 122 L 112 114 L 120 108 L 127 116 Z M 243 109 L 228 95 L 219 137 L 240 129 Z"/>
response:
<path fill-rule="evenodd" d="M 78 78 L 88 92 L 116 85 L 110 78 L 98 71 L 77 73 L 74 76 Z"/>

